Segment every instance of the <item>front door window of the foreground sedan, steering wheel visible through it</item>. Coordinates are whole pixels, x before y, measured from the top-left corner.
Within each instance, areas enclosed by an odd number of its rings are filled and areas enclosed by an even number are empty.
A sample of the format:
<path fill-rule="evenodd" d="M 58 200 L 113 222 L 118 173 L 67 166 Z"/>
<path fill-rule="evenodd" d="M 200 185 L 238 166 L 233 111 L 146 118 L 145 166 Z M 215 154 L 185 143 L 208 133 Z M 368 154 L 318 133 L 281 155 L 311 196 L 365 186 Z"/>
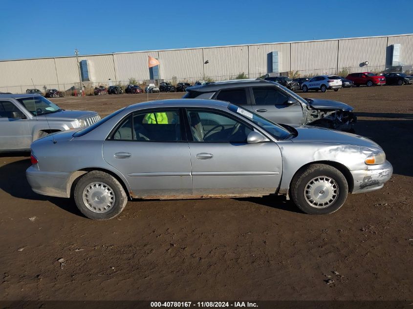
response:
<path fill-rule="evenodd" d="M 193 141 L 204 143 L 246 143 L 253 130 L 222 112 L 187 110 Z"/>

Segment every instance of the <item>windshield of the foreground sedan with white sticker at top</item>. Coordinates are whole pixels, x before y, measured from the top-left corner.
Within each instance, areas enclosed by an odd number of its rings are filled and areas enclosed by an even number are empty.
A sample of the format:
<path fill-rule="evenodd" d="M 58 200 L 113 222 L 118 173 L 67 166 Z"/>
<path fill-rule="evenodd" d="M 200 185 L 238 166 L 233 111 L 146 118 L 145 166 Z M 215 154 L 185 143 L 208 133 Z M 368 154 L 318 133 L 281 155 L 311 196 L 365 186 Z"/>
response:
<path fill-rule="evenodd" d="M 273 122 L 270 122 L 269 120 L 265 118 L 262 118 L 260 115 L 254 112 L 251 112 L 249 110 L 246 110 L 234 104 L 228 104 L 228 109 L 252 121 L 254 124 L 257 124 L 262 129 L 264 129 L 266 132 L 274 136 L 277 140 L 284 140 L 291 136 L 292 132 L 283 128 L 279 124 L 274 124 Z"/>

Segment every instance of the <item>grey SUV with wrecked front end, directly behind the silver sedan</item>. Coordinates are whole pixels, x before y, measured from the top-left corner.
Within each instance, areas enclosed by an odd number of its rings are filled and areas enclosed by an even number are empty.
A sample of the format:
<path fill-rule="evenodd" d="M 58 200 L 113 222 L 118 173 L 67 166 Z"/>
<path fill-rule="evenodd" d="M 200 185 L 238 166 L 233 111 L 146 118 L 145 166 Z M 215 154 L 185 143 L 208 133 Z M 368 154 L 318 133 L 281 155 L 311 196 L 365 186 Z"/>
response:
<path fill-rule="evenodd" d="M 261 79 L 207 82 L 188 87 L 186 91 L 184 99 L 227 101 L 278 124 L 309 124 L 354 131 L 353 107 L 330 100 L 303 99 L 275 82 Z"/>

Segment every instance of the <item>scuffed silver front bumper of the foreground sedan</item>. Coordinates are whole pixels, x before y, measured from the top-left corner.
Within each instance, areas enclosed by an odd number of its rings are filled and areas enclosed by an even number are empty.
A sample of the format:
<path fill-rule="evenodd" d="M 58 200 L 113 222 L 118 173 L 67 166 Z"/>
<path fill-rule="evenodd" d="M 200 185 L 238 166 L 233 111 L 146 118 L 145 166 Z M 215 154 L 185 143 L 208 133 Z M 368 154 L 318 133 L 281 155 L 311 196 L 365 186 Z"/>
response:
<path fill-rule="evenodd" d="M 351 170 L 353 190 L 351 193 L 364 193 L 381 189 L 391 178 L 393 166 L 386 160 L 381 165 L 368 165 L 367 169 Z"/>

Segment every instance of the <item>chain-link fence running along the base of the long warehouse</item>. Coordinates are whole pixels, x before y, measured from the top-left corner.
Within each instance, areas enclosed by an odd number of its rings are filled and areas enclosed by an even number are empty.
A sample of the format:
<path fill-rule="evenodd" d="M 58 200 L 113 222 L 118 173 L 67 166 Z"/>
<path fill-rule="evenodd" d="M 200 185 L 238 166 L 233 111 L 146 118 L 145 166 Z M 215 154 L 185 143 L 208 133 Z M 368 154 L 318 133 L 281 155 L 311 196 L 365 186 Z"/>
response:
<path fill-rule="evenodd" d="M 304 69 L 304 70 L 295 70 L 281 73 L 244 73 L 239 72 L 238 74 L 228 74 L 228 75 L 219 75 L 219 76 L 194 76 L 194 77 L 173 77 L 171 79 L 160 79 L 160 80 L 144 80 L 135 77 L 131 77 L 127 81 L 101 81 L 101 82 L 73 82 L 73 83 L 59 83 L 59 84 L 33 84 L 31 85 L 20 85 L 20 86 L 3 86 L 0 87 L 0 92 L 10 92 L 10 93 L 26 93 L 27 89 L 39 89 L 43 94 L 48 89 L 57 89 L 62 92 L 64 96 L 73 96 L 73 95 L 93 95 L 94 88 L 99 86 L 104 86 L 108 88 L 109 86 L 120 86 L 125 92 L 125 88 L 128 84 L 137 84 L 142 89 L 146 87 L 149 83 L 154 83 L 159 85 L 161 82 L 169 82 L 173 85 L 176 85 L 178 82 L 189 82 L 193 84 L 196 81 L 206 81 L 206 82 L 215 82 L 215 81 L 227 81 L 227 80 L 236 80 L 236 79 L 257 79 L 264 78 L 271 75 L 282 75 L 288 76 L 290 78 L 299 78 L 299 77 L 314 77 L 317 75 L 339 75 L 346 77 L 350 73 L 359 73 L 359 72 L 372 72 L 375 74 L 383 74 L 387 72 L 399 72 L 405 73 L 407 75 L 413 74 L 413 65 L 402 65 L 395 67 L 386 67 L 385 65 L 364 65 L 357 67 L 335 67 L 335 68 L 318 68 L 318 69 Z M 80 91 L 82 90 L 82 92 Z"/>

